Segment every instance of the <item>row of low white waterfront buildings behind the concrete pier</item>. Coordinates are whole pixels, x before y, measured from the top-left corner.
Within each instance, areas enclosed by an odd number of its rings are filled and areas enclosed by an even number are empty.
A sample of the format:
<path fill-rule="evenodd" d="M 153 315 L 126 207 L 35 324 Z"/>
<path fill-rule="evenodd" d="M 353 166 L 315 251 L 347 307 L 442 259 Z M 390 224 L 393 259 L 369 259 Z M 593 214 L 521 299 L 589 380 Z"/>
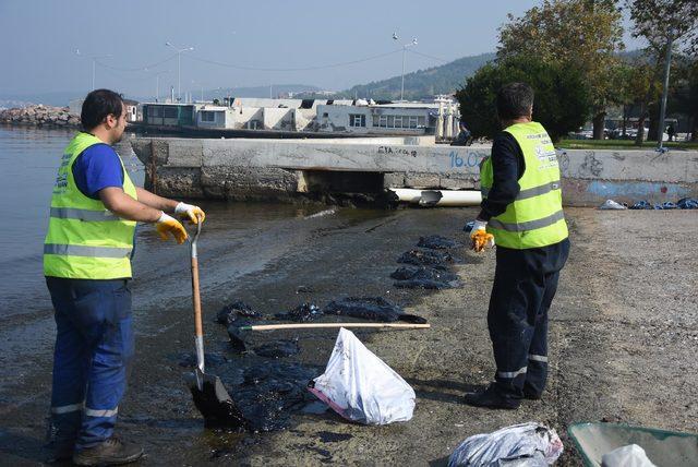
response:
<path fill-rule="evenodd" d="M 434 135 L 458 132 L 458 105 L 440 96 L 432 103 L 364 99 L 225 98 L 214 103 L 145 103 L 146 127 L 196 130 L 265 130 L 337 135 Z"/>

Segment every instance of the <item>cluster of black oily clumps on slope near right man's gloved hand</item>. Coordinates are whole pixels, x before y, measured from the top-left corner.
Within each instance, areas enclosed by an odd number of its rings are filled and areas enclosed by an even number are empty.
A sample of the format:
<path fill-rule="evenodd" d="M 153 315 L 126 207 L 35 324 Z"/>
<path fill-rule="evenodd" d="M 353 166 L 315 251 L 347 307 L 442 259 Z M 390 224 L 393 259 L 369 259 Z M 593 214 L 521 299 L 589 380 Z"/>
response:
<path fill-rule="evenodd" d="M 454 256 L 448 250 L 460 248 L 461 243 L 434 235 L 420 237 L 417 247 L 398 258 L 397 262 L 407 266 L 390 274 L 395 287 L 441 290 L 460 286 L 458 276 L 449 270 Z"/>

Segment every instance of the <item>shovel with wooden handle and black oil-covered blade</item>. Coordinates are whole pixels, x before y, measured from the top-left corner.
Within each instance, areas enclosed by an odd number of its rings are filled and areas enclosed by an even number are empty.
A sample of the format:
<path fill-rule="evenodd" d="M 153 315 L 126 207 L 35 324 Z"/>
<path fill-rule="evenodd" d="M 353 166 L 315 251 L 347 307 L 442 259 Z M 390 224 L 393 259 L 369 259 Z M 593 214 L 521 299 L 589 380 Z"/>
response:
<path fill-rule="evenodd" d="M 230 395 L 224 387 L 220 379 L 213 374 L 206 374 L 204 366 L 204 330 L 201 319 L 201 295 L 198 292 L 198 259 L 196 241 L 201 235 L 201 220 L 196 224 L 196 235 L 190 239 L 192 259 L 192 301 L 194 304 L 194 345 L 196 348 L 196 369 L 193 373 L 186 373 L 184 380 L 189 384 L 194 398 L 194 405 L 202 416 L 207 428 L 237 428 L 243 429 L 245 420 L 236 407 Z"/>

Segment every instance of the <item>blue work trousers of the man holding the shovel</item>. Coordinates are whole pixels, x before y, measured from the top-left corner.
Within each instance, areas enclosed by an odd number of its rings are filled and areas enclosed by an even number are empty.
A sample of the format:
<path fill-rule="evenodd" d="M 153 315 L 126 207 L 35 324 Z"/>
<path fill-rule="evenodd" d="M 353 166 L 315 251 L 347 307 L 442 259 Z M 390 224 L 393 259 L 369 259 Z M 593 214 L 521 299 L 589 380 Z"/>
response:
<path fill-rule="evenodd" d="M 51 419 L 57 440 L 77 450 L 111 438 L 133 357 L 125 279 L 47 277 L 57 335 Z"/>

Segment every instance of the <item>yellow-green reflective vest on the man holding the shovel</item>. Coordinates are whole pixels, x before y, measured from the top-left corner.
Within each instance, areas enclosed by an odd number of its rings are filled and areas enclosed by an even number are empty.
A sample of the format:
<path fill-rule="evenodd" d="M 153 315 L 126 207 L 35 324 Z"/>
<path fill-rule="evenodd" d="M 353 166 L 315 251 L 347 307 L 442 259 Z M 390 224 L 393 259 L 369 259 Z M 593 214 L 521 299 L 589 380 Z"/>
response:
<path fill-rule="evenodd" d="M 80 154 L 101 140 L 79 133 L 68 144 L 51 196 L 44 241 L 44 275 L 76 279 L 131 277 L 131 252 L 136 223 L 108 211 L 100 200 L 84 195 L 73 178 Z M 137 199 L 135 185 L 121 163 L 123 191 Z"/>

